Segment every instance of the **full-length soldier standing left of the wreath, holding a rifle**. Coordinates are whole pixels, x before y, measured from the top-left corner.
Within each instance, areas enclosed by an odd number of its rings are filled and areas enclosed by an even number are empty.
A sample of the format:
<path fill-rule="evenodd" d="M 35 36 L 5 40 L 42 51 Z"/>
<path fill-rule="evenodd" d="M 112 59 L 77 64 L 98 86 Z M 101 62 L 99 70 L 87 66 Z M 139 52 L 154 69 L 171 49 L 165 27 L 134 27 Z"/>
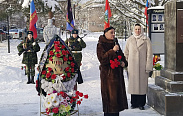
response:
<path fill-rule="evenodd" d="M 27 32 L 26 39 L 17 46 L 17 49 L 19 55 L 23 53 L 22 63 L 26 65 L 26 75 L 28 77 L 27 84 L 35 84 L 35 64 L 37 64 L 37 52 L 40 51 L 40 46 L 33 38 L 32 31 Z"/>

